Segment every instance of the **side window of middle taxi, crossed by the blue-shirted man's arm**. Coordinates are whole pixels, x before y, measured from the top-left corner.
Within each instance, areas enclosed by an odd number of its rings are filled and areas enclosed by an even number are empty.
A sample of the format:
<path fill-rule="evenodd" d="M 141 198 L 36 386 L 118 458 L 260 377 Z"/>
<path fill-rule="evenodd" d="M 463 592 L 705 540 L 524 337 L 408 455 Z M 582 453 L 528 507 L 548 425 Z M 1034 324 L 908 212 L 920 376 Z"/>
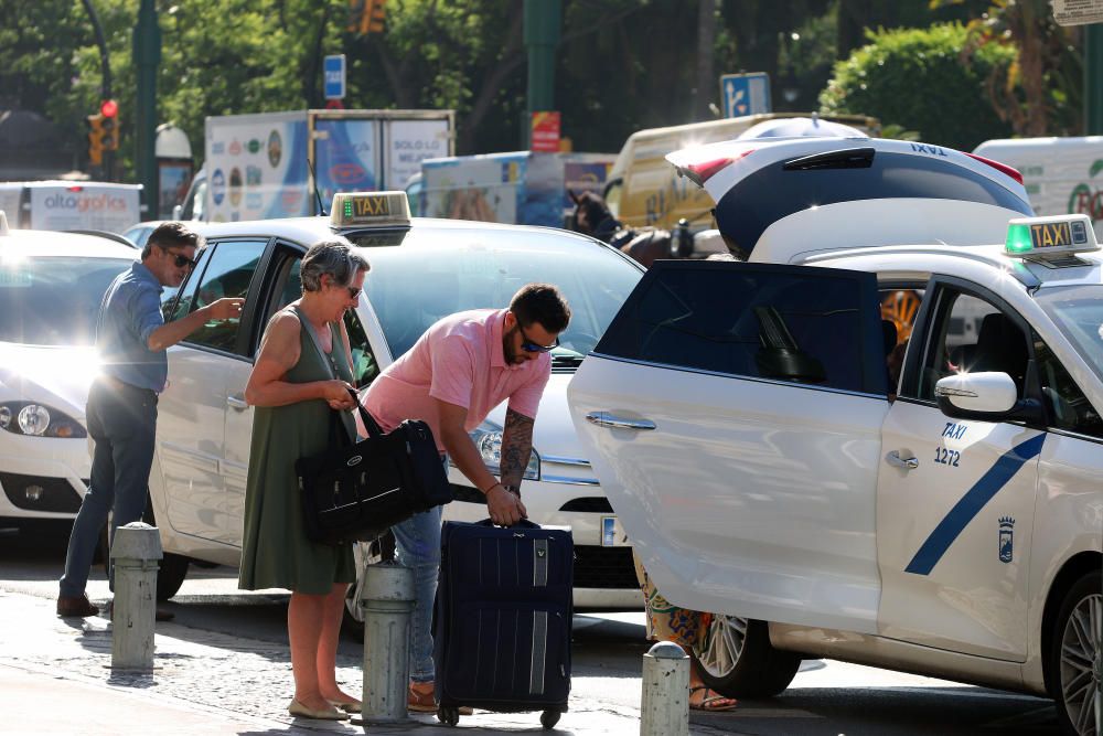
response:
<path fill-rule="evenodd" d="M 195 280 L 197 286 L 194 290 L 189 289 L 186 300 L 181 297 L 176 314 L 190 313 L 223 297 L 248 295 L 253 274 L 267 245 L 267 241 L 224 241 L 215 244 L 203 274 L 199 279 L 190 279 Z M 211 321 L 189 335 L 186 342 L 234 352 L 239 327 L 238 318 Z"/>

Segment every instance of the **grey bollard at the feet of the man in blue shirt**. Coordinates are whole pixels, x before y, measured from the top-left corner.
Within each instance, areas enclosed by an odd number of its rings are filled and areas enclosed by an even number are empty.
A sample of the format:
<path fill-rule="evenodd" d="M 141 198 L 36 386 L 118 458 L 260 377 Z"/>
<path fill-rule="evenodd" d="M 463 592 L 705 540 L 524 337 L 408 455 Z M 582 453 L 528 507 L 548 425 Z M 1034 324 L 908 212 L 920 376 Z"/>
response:
<path fill-rule="evenodd" d="M 111 543 L 115 601 L 111 610 L 111 668 L 153 669 L 157 568 L 163 557 L 156 526 L 140 521 L 120 526 Z"/>

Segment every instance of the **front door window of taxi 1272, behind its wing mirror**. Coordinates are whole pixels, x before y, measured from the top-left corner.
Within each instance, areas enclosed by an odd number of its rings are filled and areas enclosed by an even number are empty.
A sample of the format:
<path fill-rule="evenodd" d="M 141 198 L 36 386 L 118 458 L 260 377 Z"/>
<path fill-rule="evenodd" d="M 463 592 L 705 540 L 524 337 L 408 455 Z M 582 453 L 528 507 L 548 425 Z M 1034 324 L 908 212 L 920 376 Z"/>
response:
<path fill-rule="evenodd" d="M 989 301 L 944 287 L 929 334 L 918 393 L 909 390 L 902 395 L 933 402 L 935 384 L 947 375 L 999 371 L 1011 376 L 1019 398 L 1024 397 L 1030 355 L 1026 337 L 1009 314 Z"/>

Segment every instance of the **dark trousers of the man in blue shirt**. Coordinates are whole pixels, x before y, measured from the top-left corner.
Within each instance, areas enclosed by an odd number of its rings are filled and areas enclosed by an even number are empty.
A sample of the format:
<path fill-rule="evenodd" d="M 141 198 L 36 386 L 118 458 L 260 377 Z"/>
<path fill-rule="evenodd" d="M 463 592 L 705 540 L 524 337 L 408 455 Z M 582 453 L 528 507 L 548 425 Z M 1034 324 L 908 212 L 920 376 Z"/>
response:
<path fill-rule="evenodd" d="M 111 540 L 119 526 L 141 521 L 153 465 L 157 393 L 99 377 L 88 392 L 86 413 L 88 435 L 95 442 L 92 480 L 69 535 L 65 574 L 61 579 L 63 596 L 84 593 L 108 514 Z"/>

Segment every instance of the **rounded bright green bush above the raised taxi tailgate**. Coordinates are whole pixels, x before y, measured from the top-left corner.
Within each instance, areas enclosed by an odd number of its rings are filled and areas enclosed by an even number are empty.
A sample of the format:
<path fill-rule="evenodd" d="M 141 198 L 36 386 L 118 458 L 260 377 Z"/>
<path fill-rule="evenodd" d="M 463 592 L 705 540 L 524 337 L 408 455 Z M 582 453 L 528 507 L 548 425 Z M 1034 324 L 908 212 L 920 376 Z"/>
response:
<path fill-rule="evenodd" d="M 1010 126 L 987 102 L 985 81 L 994 67 L 1011 63 L 1014 51 L 985 46 L 966 65 L 967 38 L 957 23 L 870 32 L 868 45 L 835 65 L 820 97 L 823 111 L 872 115 L 918 131 L 925 142 L 966 151 L 1006 137 Z"/>

